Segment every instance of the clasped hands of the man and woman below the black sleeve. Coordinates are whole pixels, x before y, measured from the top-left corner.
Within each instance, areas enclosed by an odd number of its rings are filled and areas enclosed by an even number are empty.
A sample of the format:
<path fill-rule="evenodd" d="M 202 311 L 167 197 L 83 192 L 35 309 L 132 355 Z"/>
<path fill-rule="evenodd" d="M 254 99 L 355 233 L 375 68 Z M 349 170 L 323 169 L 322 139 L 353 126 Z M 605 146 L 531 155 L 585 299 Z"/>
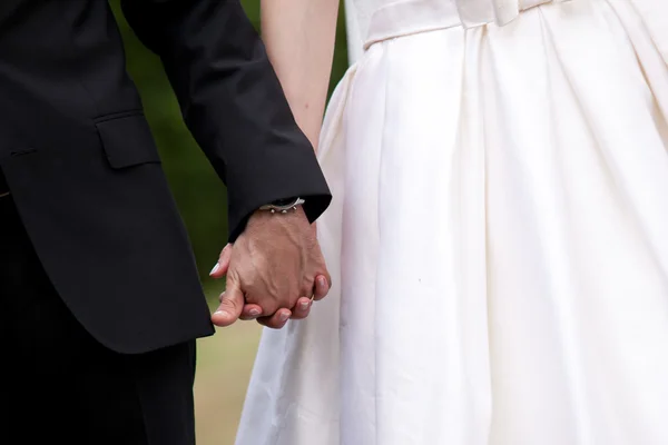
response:
<path fill-rule="evenodd" d="M 212 270 L 214 278 L 225 275 L 226 290 L 212 317 L 217 326 L 257 318 L 281 328 L 291 317 L 306 317 L 312 296 L 324 298 L 331 286 L 315 230 L 302 208 L 255 212 Z"/>

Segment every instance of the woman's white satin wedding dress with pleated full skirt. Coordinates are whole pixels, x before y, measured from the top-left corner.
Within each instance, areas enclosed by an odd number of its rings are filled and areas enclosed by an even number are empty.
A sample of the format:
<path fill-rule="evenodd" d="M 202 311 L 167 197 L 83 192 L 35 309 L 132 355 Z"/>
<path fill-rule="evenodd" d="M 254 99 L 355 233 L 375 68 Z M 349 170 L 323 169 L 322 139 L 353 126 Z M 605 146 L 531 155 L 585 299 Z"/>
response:
<path fill-rule="evenodd" d="M 668 444 L 668 1 L 356 8 L 237 445 Z"/>

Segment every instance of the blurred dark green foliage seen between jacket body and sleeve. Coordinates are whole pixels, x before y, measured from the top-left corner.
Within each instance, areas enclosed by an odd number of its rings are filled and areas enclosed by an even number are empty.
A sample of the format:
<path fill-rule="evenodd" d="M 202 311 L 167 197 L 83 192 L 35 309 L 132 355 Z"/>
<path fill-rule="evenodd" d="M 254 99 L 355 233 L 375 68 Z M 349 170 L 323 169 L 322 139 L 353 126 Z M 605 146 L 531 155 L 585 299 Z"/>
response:
<path fill-rule="evenodd" d="M 188 229 L 197 266 L 206 286 L 208 271 L 227 239 L 225 187 L 184 125 L 178 102 L 159 59 L 132 33 L 122 18 L 119 0 L 109 0 L 109 3 L 117 16 L 126 43 L 128 71 L 139 88 L 165 172 Z M 259 0 L 243 0 L 243 3 L 248 18 L 259 30 Z M 345 19 L 342 9 L 331 90 L 346 68 Z"/>

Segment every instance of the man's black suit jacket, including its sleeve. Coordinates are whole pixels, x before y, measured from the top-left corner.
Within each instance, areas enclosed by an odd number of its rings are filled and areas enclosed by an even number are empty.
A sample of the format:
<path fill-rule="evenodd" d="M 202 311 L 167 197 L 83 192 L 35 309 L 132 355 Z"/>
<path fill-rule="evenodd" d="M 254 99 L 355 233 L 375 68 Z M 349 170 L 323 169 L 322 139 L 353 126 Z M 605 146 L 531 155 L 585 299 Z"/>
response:
<path fill-rule="evenodd" d="M 330 202 L 327 185 L 238 0 L 122 6 L 227 184 L 230 239 L 279 198 L 304 197 L 315 219 Z M 0 2 L 0 167 L 80 323 L 122 353 L 212 334 L 107 1 Z"/>

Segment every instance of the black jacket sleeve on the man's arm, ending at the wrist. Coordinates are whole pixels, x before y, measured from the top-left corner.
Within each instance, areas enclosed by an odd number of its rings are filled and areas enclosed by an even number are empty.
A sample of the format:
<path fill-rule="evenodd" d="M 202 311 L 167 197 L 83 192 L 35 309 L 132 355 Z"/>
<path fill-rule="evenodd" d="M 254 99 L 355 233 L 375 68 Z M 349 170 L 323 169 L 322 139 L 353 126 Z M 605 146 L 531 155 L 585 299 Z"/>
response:
<path fill-rule="evenodd" d="M 330 190 L 238 0 L 124 0 L 163 60 L 186 125 L 227 185 L 230 240 L 259 206 L 299 196 L 315 220 Z"/>

